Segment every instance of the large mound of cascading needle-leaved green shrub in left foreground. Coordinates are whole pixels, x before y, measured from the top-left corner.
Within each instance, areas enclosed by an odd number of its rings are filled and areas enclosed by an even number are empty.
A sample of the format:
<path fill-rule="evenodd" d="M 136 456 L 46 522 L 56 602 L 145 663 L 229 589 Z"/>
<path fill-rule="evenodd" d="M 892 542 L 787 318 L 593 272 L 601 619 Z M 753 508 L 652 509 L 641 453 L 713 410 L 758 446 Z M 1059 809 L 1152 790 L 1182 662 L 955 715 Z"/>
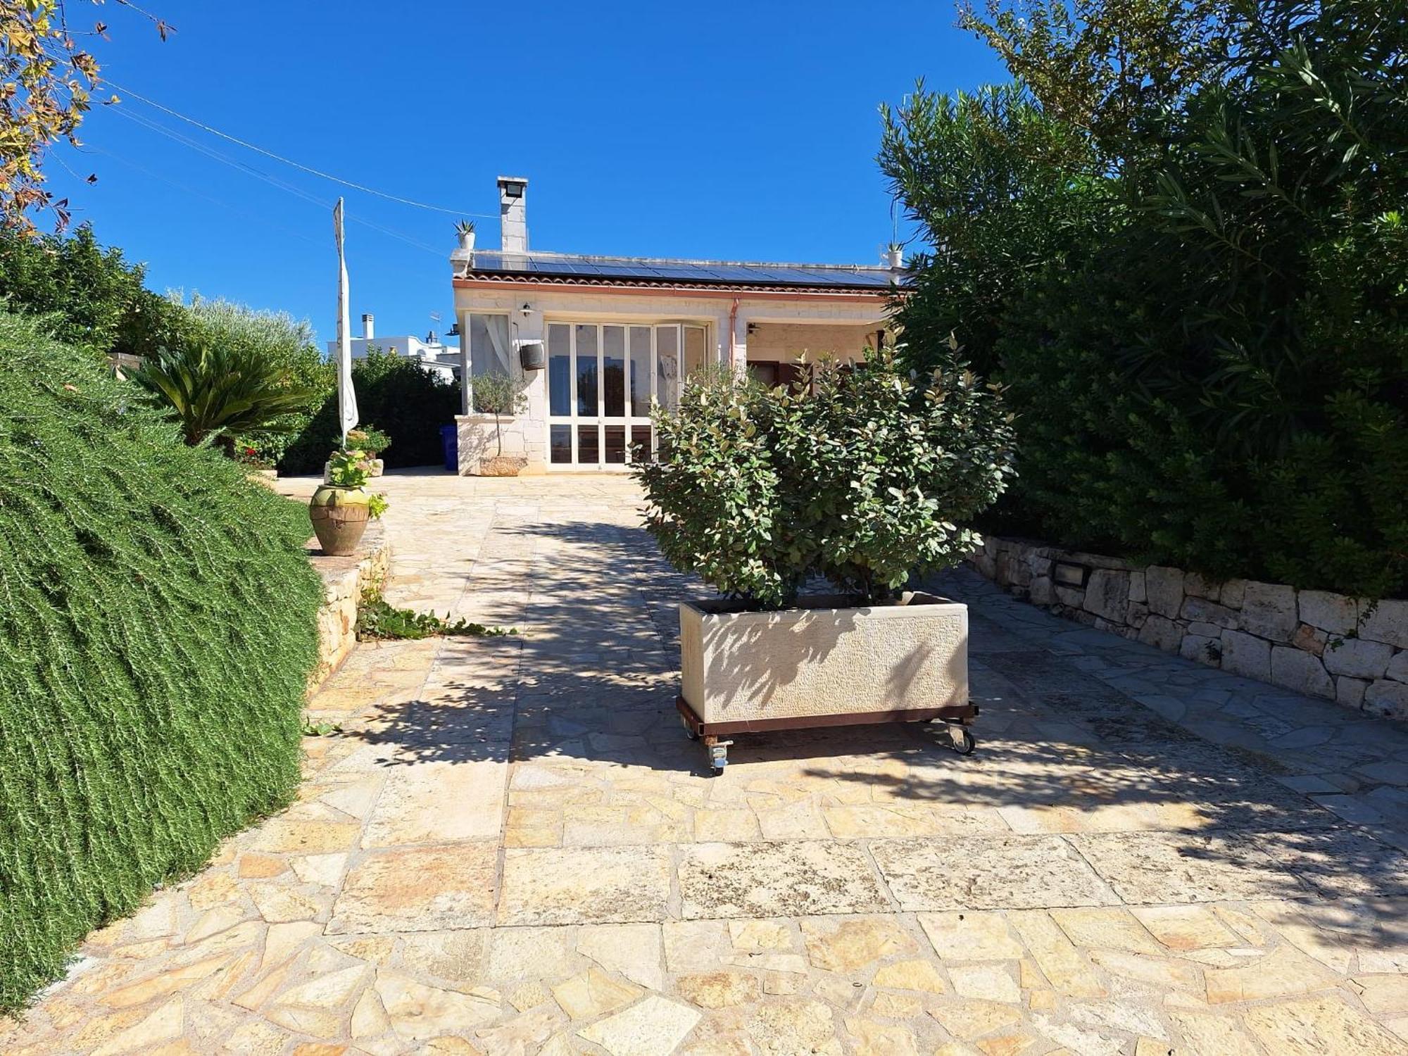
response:
<path fill-rule="evenodd" d="M 289 801 L 307 514 L 0 315 L 0 1010 Z"/>

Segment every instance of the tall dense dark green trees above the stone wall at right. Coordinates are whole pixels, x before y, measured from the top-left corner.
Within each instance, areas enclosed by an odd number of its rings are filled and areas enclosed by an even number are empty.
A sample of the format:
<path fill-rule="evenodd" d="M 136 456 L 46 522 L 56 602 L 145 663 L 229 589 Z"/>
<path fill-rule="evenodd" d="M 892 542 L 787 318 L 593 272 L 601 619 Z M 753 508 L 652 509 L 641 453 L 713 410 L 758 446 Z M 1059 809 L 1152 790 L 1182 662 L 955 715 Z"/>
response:
<path fill-rule="evenodd" d="M 883 163 L 942 246 L 900 311 L 911 360 L 952 327 L 1008 386 L 1021 480 L 994 527 L 1402 593 L 1408 31 L 1343 1 L 1177 21 L 1195 7 L 986 24 L 1026 79 L 1008 92 L 1084 142 L 1084 168 L 932 101 L 891 120 Z M 1050 224 L 1028 197 L 1056 203 Z"/>

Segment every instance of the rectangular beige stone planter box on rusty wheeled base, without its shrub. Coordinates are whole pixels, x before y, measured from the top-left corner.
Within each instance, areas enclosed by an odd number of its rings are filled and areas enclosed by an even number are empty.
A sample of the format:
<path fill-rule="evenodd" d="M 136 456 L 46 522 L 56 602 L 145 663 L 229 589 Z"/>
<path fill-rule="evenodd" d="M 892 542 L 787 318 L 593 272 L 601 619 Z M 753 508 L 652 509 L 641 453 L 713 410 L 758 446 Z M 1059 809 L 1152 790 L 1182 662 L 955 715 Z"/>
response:
<path fill-rule="evenodd" d="M 973 750 L 967 607 L 919 591 L 891 605 L 845 600 L 808 597 L 780 612 L 680 604 L 676 705 L 715 776 L 732 734 L 773 729 L 943 722 L 955 750 Z"/>

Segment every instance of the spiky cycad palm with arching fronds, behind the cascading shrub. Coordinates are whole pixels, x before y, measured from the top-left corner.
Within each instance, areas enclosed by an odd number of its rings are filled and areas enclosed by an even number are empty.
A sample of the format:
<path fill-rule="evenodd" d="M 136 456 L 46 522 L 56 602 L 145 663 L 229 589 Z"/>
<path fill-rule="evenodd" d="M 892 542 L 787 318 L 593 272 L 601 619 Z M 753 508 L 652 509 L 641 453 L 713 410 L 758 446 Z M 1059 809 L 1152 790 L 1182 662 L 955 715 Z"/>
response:
<path fill-rule="evenodd" d="M 180 422 L 189 445 L 208 439 L 227 451 L 235 436 L 289 432 L 287 415 L 307 410 L 313 398 L 259 352 L 200 339 L 162 349 L 132 380 Z"/>

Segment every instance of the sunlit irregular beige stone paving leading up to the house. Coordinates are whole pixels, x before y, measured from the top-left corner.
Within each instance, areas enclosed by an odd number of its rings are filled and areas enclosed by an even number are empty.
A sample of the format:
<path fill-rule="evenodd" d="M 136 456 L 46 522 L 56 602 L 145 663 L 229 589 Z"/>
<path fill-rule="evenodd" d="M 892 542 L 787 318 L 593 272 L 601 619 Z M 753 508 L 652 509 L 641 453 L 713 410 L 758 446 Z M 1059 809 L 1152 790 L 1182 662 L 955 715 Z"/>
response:
<path fill-rule="evenodd" d="M 311 482 L 284 482 L 307 491 Z M 1408 1052 L 1408 734 L 970 573 L 979 750 L 673 711 L 610 477 L 398 476 L 389 596 L 284 814 L 92 936 L 8 1053 Z"/>

